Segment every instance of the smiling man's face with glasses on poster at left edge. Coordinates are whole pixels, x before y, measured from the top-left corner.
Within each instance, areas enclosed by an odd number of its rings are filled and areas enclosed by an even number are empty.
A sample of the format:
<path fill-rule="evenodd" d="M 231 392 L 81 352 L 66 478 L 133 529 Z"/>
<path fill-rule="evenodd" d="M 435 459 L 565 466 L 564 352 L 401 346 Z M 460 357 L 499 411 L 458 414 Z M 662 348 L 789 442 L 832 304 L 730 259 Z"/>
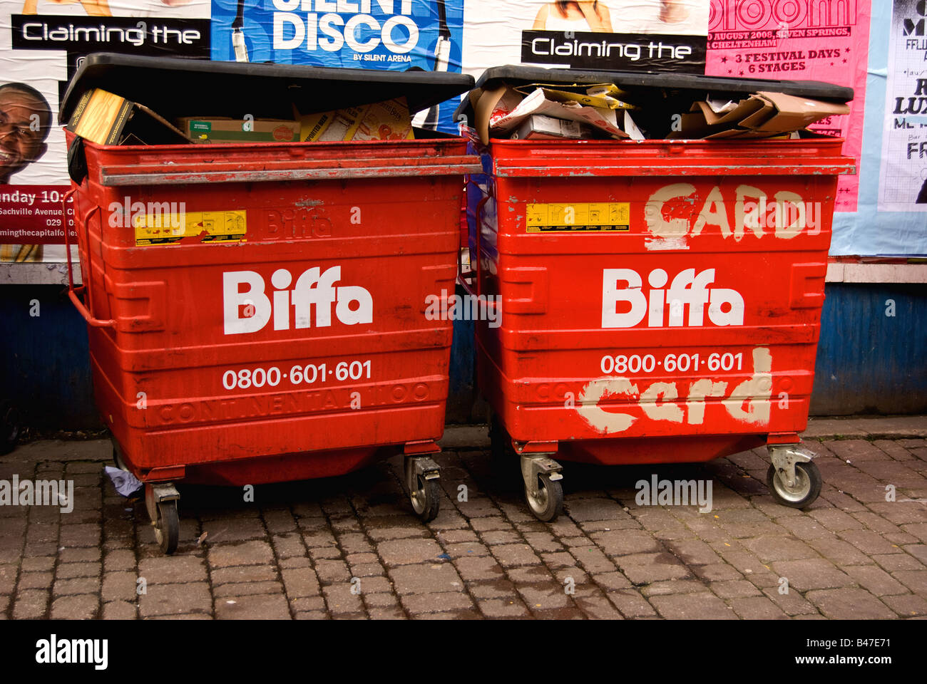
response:
<path fill-rule="evenodd" d="M 44 155 L 50 123 L 44 101 L 15 86 L 0 87 L 0 183 Z"/>

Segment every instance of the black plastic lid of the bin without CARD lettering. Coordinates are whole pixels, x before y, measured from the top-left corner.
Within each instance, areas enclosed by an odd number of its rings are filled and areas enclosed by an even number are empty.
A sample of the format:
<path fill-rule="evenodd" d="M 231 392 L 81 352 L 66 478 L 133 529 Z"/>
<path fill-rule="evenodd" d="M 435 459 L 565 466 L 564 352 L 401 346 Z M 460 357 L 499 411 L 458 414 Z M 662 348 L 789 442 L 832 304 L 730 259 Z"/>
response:
<path fill-rule="evenodd" d="M 465 93 L 472 76 L 443 71 L 336 69 L 183 57 L 95 53 L 83 60 L 61 100 L 67 123 L 81 95 L 102 88 L 166 119 L 228 116 L 292 119 L 300 114 L 406 98 L 414 113 Z"/>

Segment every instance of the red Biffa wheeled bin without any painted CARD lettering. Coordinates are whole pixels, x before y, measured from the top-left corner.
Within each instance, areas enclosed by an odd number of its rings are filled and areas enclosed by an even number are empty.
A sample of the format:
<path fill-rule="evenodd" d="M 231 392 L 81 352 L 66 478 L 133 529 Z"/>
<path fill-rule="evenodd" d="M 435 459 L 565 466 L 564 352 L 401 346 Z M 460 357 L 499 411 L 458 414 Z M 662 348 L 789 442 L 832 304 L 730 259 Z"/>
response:
<path fill-rule="evenodd" d="M 180 80 L 189 95 L 174 104 L 187 114 L 233 83 L 253 85 L 257 102 L 301 89 L 304 112 L 320 85 L 317 109 L 338 106 L 342 82 L 342 104 L 356 104 L 360 84 L 411 108 L 472 85 L 460 74 L 96 55 L 61 120 L 84 86 L 145 103 L 132 83 L 152 92 Z M 397 452 L 416 513 L 433 518 L 428 454 L 444 428 L 451 322 L 427 320 L 425 301 L 455 277 L 464 172 L 478 169 L 464 140 L 81 142 L 86 179 L 70 194 L 83 287 L 70 297 L 88 323 L 115 455 L 146 484 L 161 548 L 177 545 L 173 483 L 341 475 Z M 187 235 L 151 234 L 153 213 L 164 226 L 184 222 Z M 202 230 L 189 235 L 191 224 Z"/>

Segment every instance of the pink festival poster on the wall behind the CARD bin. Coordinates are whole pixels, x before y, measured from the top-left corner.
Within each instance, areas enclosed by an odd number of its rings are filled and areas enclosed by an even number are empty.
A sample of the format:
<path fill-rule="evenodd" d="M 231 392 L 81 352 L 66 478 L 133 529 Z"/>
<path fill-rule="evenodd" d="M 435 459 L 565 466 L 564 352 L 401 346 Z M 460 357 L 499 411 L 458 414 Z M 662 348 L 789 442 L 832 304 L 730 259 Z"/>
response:
<path fill-rule="evenodd" d="M 862 148 L 870 0 L 711 0 L 705 73 L 711 76 L 824 81 L 855 90 L 850 113 L 811 128 Z M 842 176 L 837 211 L 857 210 L 859 176 Z"/>

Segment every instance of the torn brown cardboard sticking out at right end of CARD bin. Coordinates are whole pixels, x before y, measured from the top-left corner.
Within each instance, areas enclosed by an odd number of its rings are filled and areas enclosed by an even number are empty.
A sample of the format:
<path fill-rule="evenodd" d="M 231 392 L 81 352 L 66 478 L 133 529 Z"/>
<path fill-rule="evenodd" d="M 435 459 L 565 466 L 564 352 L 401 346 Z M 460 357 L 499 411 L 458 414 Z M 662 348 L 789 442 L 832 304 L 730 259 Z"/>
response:
<path fill-rule="evenodd" d="M 807 128 L 827 117 L 849 114 L 844 104 L 782 93 L 758 92 L 723 108 L 700 101 L 682 115 L 681 130 L 671 138 L 769 138 Z"/>

